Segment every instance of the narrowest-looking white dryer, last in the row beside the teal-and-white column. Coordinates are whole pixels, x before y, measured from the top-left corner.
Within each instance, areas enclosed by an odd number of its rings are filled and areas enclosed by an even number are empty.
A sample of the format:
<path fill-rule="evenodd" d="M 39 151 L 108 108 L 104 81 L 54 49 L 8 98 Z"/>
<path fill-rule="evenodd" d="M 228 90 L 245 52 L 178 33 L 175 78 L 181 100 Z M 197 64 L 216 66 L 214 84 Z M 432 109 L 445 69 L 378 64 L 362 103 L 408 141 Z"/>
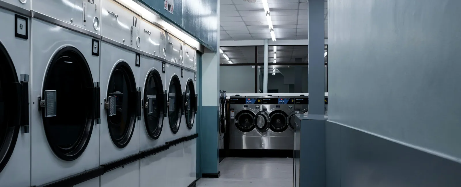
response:
<path fill-rule="evenodd" d="M 197 55 L 196 50 L 187 44 L 183 44 L 183 89 L 184 89 L 184 115 L 183 125 L 180 130 L 189 137 L 184 141 L 184 185 L 188 186 L 195 181 L 197 162 L 197 137 L 195 131 L 195 117 L 198 109 L 197 90 Z M 194 136 L 194 138 L 192 138 Z"/>

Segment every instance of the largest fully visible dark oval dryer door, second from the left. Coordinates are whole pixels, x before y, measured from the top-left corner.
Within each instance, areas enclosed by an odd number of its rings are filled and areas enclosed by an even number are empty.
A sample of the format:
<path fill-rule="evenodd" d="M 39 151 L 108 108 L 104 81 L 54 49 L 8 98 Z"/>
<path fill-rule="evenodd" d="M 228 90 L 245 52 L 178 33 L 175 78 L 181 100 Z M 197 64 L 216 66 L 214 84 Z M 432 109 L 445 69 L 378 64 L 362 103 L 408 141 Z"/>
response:
<path fill-rule="evenodd" d="M 88 63 L 74 47 L 64 47 L 51 60 L 43 82 L 43 128 L 59 158 L 71 161 L 88 145 L 99 109 Z"/>

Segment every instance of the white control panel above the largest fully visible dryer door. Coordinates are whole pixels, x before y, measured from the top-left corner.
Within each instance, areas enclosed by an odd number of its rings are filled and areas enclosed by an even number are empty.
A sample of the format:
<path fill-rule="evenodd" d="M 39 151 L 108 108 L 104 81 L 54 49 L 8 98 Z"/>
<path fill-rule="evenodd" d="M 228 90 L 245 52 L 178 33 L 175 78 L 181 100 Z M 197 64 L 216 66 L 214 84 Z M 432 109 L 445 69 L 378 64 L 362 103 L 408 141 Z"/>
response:
<path fill-rule="evenodd" d="M 32 10 L 99 34 L 100 5 L 100 0 L 36 0 Z"/>

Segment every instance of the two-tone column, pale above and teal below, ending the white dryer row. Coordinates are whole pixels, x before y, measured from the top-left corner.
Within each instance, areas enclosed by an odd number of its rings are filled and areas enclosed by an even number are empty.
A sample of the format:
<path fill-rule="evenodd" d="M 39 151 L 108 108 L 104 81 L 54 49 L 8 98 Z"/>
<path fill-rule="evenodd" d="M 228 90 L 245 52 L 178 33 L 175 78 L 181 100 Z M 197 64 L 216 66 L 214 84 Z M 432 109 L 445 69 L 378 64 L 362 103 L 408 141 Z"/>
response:
<path fill-rule="evenodd" d="M 219 28 L 219 0 L 216 25 Z M 219 30 L 218 30 L 219 36 Z M 218 38 L 219 49 L 219 38 Z M 219 51 L 219 50 L 218 50 Z M 219 52 L 207 48 L 201 64 L 201 173 L 202 177 L 219 177 Z"/>

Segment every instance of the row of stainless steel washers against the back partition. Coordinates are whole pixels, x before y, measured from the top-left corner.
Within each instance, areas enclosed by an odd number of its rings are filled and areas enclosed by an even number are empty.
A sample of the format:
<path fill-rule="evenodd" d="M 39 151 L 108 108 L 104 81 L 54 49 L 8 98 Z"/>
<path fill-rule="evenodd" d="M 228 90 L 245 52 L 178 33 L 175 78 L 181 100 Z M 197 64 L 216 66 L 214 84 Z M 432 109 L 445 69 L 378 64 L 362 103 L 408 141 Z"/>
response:
<path fill-rule="evenodd" d="M 308 96 L 230 96 L 230 149 L 293 150 L 295 115 Z M 325 115 L 327 99 L 325 98 Z"/>

